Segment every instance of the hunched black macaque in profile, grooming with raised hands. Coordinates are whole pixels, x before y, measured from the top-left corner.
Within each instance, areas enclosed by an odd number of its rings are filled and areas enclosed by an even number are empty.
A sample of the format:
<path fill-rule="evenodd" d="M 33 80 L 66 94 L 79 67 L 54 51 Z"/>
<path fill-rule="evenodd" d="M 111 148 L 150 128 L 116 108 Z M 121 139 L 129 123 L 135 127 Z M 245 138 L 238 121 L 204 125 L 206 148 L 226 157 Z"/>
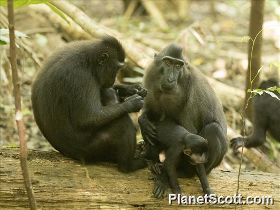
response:
<path fill-rule="evenodd" d="M 32 87 L 32 106 L 55 149 L 83 163 L 117 162 L 121 172 L 146 166 L 144 157 L 134 159 L 136 131 L 128 113 L 141 109 L 147 91 L 114 85 L 124 59 L 118 40 L 105 36 L 67 44 L 45 61 Z M 128 98 L 119 103 L 119 97 Z"/>

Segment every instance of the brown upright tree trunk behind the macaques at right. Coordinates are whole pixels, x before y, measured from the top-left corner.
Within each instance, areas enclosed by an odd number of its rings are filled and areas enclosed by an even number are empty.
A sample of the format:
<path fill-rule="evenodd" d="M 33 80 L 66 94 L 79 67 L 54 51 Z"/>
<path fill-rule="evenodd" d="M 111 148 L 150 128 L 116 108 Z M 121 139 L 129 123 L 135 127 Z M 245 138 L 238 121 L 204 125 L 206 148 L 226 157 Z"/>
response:
<path fill-rule="evenodd" d="M 249 36 L 254 39 L 256 35 L 262 30 L 263 25 L 263 15 L 264 15 L 264 0 L 251 0 L 251 13 L 250 13 L 250 27 Z M 253 53 L 251 55 L 251 50 L 253 42 L 249 40 L 248 42 L 248 64 L 250 64 L 251 59 L 251 72 L 250 65 L 248 65 L 248 70 L 246 74 L 246 89 L 245 89 L 245 105 L 250 96 L 247 90 L 250 88 L 250 80 L 254 78 L 258 70 L 261 67 L 261 47 L 262 47 L 262 32 L 258 35 L 254 43 Z M 252 58 L 251 58 L 252 56 Z M 252 83 L 252 89 L 258 88 L 259 76 L 257 76 Z M 252 120 L 252 102 L 250 101 L 248 107 L 245 110 L 246 117 Z"/>

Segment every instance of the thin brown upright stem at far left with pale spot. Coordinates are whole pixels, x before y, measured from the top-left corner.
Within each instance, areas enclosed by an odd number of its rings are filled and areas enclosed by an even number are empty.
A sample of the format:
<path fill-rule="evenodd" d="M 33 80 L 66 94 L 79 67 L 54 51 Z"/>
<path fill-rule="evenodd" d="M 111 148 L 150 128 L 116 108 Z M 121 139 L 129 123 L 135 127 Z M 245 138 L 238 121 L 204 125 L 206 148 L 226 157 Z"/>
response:
<path fill-rule="evenodd" d="M 8 0 L 8 20 L 9 20 L 9 36 L 10 36 L 10 63 L 12 69 L 12 78 L 14 85 L 14 97 L 15 97 L 15 107 L 16 107 L 16 123 L 19 134 L 20 141 L 20 164 L 23 172 L 23 179 L 25 188 L 27 191 L 27 196 L 29 200 L 29 206 L 31 210 L 36 210 L 35 195 L 33 192 L 31 180 L 27 168 L 27 152 L 26 152 L 26 140 L 25 140 L 25 128 L 22 119 L 21 112 L 21 96 L 20 96 L 20 82 L 18 79 L 18 72 L 16 66 L 16 44 L 15 44 L 15 31 L 14 31 L 14 9 L 13 0 Z"/>

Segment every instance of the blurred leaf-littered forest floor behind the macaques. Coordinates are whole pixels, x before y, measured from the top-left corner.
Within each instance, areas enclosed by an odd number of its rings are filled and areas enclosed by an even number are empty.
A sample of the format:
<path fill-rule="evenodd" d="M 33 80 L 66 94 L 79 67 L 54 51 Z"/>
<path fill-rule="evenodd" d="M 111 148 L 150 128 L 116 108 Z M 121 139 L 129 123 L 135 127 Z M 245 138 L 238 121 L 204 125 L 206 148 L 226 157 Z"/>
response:
<path fill-rule="evenodd" d="M 122 1 L 84 1 L 85 12 L 89 17 L 110 29 L 118 31 L 125 40 L 141 43 L 146 53 L 160 51 L 171 42 L 184 47 L 184 55 L 207 76 L 217 79 L 229 86 L 245 89 L 245 73 L 247 70 L 247 43 L 241 42 L 248 34 L 249 1 L 190 1 L 188 14 L 183 20 L 178 19 L 176 5 L 170 1 L 158 7 L 169 29 L 162 31 L 151 21 L 148 15 L 123 16 Z M 276 16 L 277 1 L 267 1 L 265 7 L 264 27 L 278 25 Z M 105 16 L 104 14 L 107 14 Z M 2 25 L 1 15 L 1 28 Z M 49 56 L 57 47 L 72 40 L 44 16 L 39 16 L 34 8 L 24 7 L 15 10 L 16 30 L 30 36 L 30 43 L 40 61 Z M 280 30 L 270 27 L 263 32 L 262 65 L 265 66 L 261 79 L 274 75 L 269 71 L 269 64 L 279 60 Z M 0 145 L 17 147 L 19 145 L 16 124 L 14 121 L 14 100 L 10 75 L 7 65 L 8 46 L 1 45 L 1 104 L 0 104 Z M 133 64 L 130 64 L 133 68 Z M 30 90 L 38 66 L 34 58 L 22 50 L 18 50 L 18 67 L 21 72 L 22 102 L 24 122 L 26 126 L 27 146 L 29 149 L 52 151 L 53 147 L 41 135 L 35 124 Z M 276 71 L 276 70 L 273 70 Z M 139 77 L 135 71 L 122 72 L 118 76 L 130 77 L 135 81 Z M 228 93 L 230 94 L 230 93 Z M 243 96 L 242 96 L 243 97 Z M 227 123 L 237 132 L 242 129 L 239 109 L 223 104 Z M 251 124 L 246 120 L 248 133 Z M 139 137 L 140 138 L 140 137 Z M 279 159 L 280 144 L 267 141 L 261 149 L 273 160 Z M 229 149 L 225 161 L 234 169 L 238 167 L 239 155 Z M 244 170 L 257 170 L 245 159 Z"/>

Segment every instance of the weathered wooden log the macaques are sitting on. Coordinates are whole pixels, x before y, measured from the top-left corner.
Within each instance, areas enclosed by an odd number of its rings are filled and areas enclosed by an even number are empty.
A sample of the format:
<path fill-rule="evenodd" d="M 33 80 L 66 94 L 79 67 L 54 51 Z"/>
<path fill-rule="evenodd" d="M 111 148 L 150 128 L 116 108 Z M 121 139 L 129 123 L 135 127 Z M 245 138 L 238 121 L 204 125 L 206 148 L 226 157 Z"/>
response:
<path fill-rule="evenodd" d="M 28 208 L 27 195 L 19 163 L 19 149 L 0 150 L 0 209 Z M 147 169 L 122 174 L 116 165 L 82 165 L 58 152 L 28 150 L 31 175 L 39 209 L 233 209 L 234 205 L 173 205 L 168 197 L 152 197 L 153 181 Z M 236 171 L 213 170 L 210 186 L 217 195 L 233 196 L 237 187 Z M 186 195 L 200 196 L 197 177 L 179 178 Z M 242 172 L 243 196 L 273 196 L 273 205 L 242 205 L 243 209 L 279 209 L 280 176 L 263 172 Z M 171 191 L 169 191 L 171 193 Z"/>

